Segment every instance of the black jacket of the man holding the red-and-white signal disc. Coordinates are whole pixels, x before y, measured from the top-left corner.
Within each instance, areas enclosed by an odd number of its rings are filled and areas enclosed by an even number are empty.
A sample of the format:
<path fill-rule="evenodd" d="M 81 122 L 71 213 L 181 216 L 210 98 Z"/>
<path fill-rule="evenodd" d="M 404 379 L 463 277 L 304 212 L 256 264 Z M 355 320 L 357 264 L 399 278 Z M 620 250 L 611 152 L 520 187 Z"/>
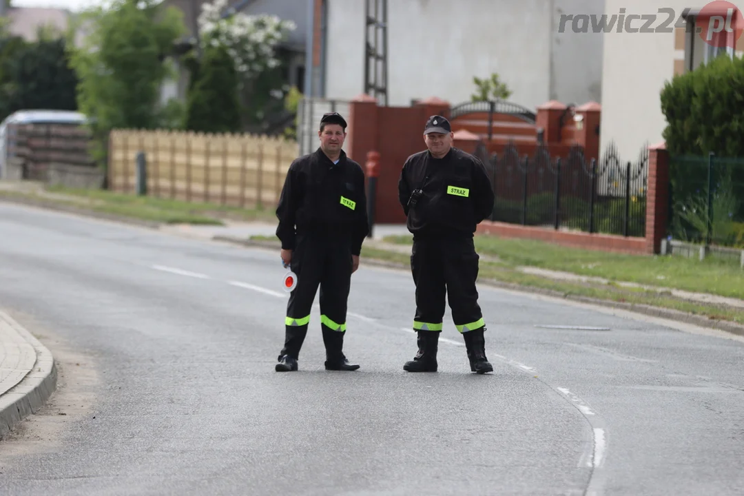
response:
<path fill-rule="evenodd" d="M 365 173 L 343 150 L 333 164 L 318 148 L 292 161 L 276 213 L 282 248 L 292 250 L 298 235 L 315 233 L 350 242 L 351 254 L 359 255 L 369 233 Z"/>

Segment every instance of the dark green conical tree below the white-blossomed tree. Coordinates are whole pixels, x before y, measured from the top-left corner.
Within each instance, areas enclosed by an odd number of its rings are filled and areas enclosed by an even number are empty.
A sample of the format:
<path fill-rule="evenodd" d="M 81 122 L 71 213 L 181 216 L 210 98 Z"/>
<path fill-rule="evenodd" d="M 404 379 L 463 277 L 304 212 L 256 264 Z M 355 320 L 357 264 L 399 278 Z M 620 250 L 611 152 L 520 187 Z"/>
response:
<path fill-rule="evenodd" d="M 240 131 L 240 100 L 235 63 L 223 46 L 208 47 L 199 80 L 189 92 L 186 127 L 201 132 Z"/>

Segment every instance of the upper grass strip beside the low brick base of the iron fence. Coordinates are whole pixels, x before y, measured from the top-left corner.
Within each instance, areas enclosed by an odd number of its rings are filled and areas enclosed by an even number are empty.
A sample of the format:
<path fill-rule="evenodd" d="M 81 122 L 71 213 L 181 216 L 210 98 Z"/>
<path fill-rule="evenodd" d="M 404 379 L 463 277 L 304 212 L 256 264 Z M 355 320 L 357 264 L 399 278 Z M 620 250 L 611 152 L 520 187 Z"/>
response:
<path fill-rule="evenodd" d="M 411 239 L 411 236 L 389 236 L 385 242 L 410 245 Z M 507 268 L 526 265 L 615 282 L 744 299 L 744 271 L 725 260 L 711 258 L 700 262 L 684 257 L 616 254 L 496 236 L 475 236 L 475 247 L 478 253 L 498 257 Z"/>

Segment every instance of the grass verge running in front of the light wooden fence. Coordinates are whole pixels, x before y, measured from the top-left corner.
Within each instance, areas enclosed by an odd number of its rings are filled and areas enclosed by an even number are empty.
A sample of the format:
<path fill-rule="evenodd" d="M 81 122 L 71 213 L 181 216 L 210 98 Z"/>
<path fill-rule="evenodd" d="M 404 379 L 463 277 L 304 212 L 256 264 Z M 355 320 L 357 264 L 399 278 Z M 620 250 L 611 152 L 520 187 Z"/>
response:
<path fill-rule="evenodd" d="M 164 224 L 223 225 L 224 220 L 256 221 L 274 219 L 272 210 L 231 207 L 214 203 L 191 203 L 154 196 L 136 196 L 108 190 L 77 190 L 45 187 L 39 191 L 0 191 L 1 196 L 22 197 L 44 203 L 91 210 Z"/>

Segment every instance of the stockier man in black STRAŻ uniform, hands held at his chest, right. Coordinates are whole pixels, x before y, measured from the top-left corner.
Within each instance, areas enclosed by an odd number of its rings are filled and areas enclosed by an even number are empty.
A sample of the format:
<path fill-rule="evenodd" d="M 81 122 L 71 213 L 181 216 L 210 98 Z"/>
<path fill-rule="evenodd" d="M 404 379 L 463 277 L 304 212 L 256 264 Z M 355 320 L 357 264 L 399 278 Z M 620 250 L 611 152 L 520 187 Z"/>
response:
<path fill-rule="evenodd" d="M 408 372 L 437 371 L 447 293 L 470 370 L 493 372 L 475 288 L 479 257 L 473 244 L 475 226 L 493 211 L 493 187 L 481 161 L 453 147 L 453 138 L 446 118 L 429 117 L 424 128 L 428 149 L 408 157 L 398 181 L 398 198 L 414 235 L 411 273 L 416 284 L 418 352 L 403 366 Z"/>

